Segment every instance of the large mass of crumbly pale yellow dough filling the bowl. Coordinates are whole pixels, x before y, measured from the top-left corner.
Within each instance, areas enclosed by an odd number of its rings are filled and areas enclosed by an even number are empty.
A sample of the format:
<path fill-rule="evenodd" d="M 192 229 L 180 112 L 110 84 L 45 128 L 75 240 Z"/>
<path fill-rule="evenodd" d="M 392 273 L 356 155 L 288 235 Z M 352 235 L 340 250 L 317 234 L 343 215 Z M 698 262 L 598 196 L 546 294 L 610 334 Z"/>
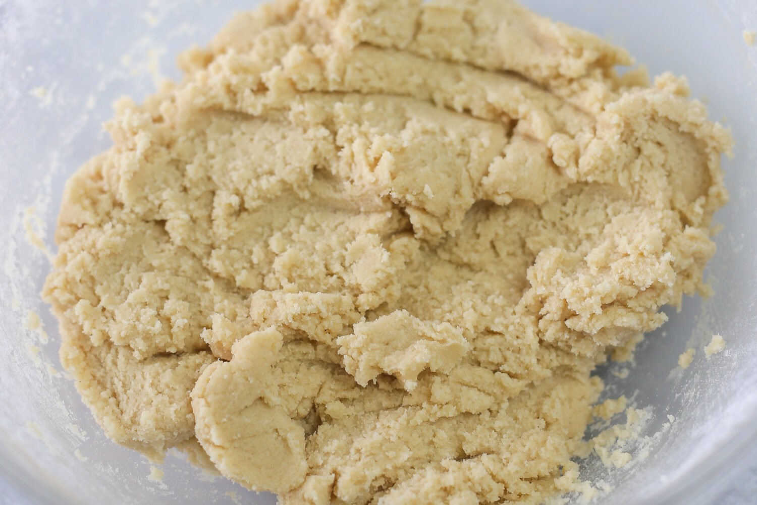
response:
<path fill-rule="evenodd" d="M 509 0 L 279 0 L 179 63 L 45 285 L 107 435 L 282 503 L 580 488 L 590 373 L 715 253 L 731 139 L 684 80 Z"/>

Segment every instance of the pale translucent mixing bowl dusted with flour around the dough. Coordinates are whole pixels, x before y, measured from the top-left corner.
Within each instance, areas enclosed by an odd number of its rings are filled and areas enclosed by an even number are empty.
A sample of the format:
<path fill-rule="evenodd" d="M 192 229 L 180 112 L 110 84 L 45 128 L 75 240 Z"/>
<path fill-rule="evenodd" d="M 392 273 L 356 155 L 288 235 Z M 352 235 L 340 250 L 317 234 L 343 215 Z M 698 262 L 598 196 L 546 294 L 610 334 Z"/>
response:
<path fill-rule="evenodd" d="M 715 296 L 688 298 L 640 345 L 627 379 L 600 370 L 607 394 L 633 395 L 653 419 L 646 459 L 584 477 L 613 490 L 597 503 L 708 503 L 729 472 L 757 448 L 757 3 L 530 0 L 531 8 L 625 45 L 651 72 L 689 76 L 693 95 L 731 126 L 725 161 L 731 204 L 709 267 Z M 20 503 L 273 503 L 213 480 L 172 454 L 162 482 L 139 454 L 108 441 L 61 374 L 55 320 L 39 299 L 64 181 L 110 140 L 101 123 L 111 102 L 138 99 L 158 73 L 178 76 L 174 58 L 204 44 L 238 10 L 257 2 L 111 0 L 0 1 L 0 486 Z M 32 240 L 30 240 L 32 238 Z M 38 242 L 39 242 L 38 241 Z M 48 335 L 36 326 L 36 317 Z M 713 333 L 726 350 L 705 360 Z M 689 369 L 678 355 L 697 349 Z"/>

